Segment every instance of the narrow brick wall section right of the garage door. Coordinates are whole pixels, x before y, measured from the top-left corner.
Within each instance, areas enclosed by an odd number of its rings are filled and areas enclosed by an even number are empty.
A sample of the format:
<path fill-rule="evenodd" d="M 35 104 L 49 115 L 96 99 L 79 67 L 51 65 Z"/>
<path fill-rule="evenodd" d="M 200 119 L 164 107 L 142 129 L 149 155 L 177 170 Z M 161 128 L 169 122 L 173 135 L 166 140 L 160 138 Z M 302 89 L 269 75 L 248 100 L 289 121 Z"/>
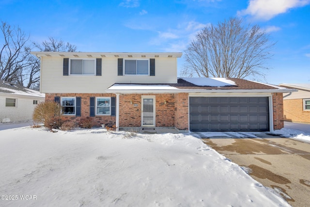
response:
<path fill-rule="evenodd" d="M 283 94 L 272 94 L 273 102 L 273 127 L 275 130 L 284 127 L 284 115 L 283 115 Z"/>

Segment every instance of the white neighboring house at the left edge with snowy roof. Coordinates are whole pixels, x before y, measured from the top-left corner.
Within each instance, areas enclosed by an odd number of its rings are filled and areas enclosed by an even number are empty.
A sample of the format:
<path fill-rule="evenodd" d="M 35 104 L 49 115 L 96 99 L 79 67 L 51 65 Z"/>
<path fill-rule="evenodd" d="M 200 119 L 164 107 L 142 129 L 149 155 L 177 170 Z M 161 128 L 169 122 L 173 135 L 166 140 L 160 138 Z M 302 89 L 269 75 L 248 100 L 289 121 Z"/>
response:
<path fill-rule="evenodd" d="M 0 82 L 0 122 L 32 119 L 35 106 L 45 95 L 4 80 Z"/>

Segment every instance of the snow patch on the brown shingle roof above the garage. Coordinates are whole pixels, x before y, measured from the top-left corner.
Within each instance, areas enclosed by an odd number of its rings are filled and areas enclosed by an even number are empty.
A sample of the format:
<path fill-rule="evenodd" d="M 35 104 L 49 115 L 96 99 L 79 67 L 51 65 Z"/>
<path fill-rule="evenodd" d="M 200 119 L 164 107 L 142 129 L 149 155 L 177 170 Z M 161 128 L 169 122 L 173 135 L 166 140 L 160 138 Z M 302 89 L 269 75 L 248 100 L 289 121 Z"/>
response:
<path fill-rule="evenodd" d="M 236 83 L 233 80 L 226 78 L 179 78 L 186 80 L 187 82 L 193 83 L 198 86 L 213 86 L 213 87 L 224 87 L 234 86 Z"/>

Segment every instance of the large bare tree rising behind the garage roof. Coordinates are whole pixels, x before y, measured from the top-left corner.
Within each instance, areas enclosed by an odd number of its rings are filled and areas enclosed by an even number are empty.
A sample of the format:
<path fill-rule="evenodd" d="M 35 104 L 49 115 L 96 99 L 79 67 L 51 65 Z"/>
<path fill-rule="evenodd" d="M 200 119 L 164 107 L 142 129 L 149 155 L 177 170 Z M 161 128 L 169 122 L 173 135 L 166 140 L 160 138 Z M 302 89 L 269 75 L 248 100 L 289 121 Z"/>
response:
<path fill-rule="evenodd" d="M 258 25 L 244 27 L 242 19 L 230 18 L 198 32 L 185 50 L 185 68 L 199 77 L 264 78 L 274 45 Z"/>

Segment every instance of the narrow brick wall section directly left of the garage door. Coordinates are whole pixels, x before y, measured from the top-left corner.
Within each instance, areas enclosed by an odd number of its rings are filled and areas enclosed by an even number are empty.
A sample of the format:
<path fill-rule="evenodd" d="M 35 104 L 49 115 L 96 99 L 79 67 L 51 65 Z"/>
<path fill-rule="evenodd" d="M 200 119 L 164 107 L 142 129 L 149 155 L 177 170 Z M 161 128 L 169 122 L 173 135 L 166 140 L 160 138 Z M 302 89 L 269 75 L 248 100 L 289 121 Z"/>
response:
<path fill-rule="evenodd" d="M 188 129 L 188 94 L 175 94 L 175 127 L 179 130 Z"/>

